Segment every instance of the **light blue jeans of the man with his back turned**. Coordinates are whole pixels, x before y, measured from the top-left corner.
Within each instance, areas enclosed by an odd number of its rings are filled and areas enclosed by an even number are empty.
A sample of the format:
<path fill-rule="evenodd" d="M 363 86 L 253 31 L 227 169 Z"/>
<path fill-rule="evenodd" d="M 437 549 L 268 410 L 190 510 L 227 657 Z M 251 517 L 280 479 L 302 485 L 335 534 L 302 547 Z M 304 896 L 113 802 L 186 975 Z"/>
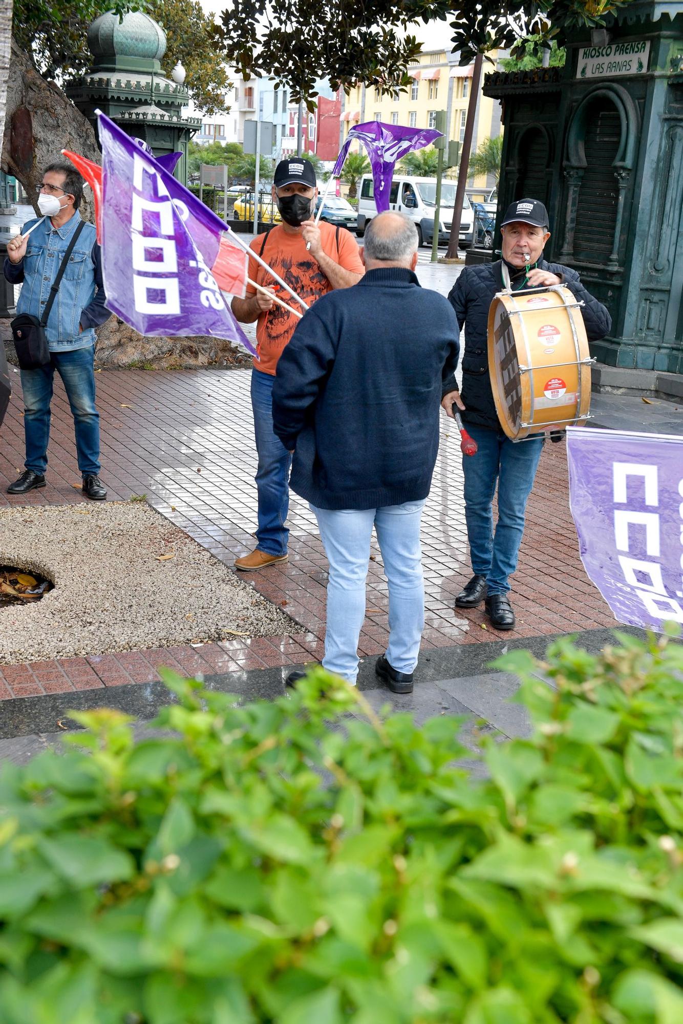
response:
<path fill-rule="evenodd" d="M 389 582 L 389 644 L 386 657 L 397 672 L 418 664 L 425 625 L 425 590 L 420 549 L 424 502 L 382 509 L 329 511 L 313 508 L 330 562 L 328 624 L 323 666 L 355 683 L 358 637 L 366 617 L 366 579 L 373 524 Z"/>

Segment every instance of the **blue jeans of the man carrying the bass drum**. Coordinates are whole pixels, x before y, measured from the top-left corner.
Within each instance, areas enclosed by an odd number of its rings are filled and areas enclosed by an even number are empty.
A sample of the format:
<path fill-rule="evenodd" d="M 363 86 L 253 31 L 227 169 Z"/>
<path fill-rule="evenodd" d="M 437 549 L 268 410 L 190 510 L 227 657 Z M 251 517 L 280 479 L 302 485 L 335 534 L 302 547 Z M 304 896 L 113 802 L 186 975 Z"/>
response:
<path fill-rule="evenodd" d="M 511 441 L 498 430 L 467 424 L 477 442 L 474 456 L 463 456 L 465 521 L 472 571 L 485 575 L 489 594 L 507 594 L 517 568 L 524 532 L 526 501 L 543 451 L 543 438 Z M 492 502 L 498 481 L 498 523 L 494 534 Z"/>

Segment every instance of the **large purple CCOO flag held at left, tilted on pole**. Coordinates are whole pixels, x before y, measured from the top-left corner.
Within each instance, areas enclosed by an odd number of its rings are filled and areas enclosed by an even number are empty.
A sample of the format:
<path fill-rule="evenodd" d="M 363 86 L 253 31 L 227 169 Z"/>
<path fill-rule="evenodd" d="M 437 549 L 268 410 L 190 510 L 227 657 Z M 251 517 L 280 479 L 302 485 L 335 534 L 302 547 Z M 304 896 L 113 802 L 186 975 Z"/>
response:
<path fill-rule="evenodd" d="M 212 273 L 226 225 L 103 114 L 106 306 L 143 335 L 211 335 L 254 348 Z"/>

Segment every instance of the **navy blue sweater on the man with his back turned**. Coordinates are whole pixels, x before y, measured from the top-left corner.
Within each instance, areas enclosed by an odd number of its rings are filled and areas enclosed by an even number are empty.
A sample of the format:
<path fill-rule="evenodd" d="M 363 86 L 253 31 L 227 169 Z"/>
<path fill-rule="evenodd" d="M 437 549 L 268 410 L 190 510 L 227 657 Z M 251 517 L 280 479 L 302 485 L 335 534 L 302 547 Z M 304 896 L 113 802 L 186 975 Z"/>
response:
<path fill-rule="evenodd" d="M 459 334 L 449 301 L 401 267 L 369 270 L 318 299 L 272 388 L 273 429 L 296 449 L 292 489 L 323 509 L 426 498 Z"/>

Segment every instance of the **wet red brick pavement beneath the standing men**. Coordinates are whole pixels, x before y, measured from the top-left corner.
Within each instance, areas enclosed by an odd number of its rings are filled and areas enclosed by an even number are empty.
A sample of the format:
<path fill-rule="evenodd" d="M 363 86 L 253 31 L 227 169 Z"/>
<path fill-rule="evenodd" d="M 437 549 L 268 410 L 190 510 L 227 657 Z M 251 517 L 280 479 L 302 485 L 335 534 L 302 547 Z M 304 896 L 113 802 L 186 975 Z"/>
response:
<path fill-rule="evenodd" d="M 87 501 L 80 492 L 73 421 L 55 384 L 48 485 L 24 498 L 4 490 L 22 470 L 24 428 L 18 374 L 0 430 L 0 507 Z M 102 478 L 110 500 L 147 496 L 150 504 L 228 565 L 251 550 L 256 527 L 249 371 L 102 372 L 97 374 Z M 460 437 L 444 420 L 432 492 L 423 519 L 426 628 L 423 647 L 500 639 L 480 609 L 454 611 L 470 575 L 462 499 Z M 76 486 L 74 486 L 76 484 Z M 238 638 L 201 647 L 93 654 L 0 667 L 0 697 L 144 683 L 167 665 L 204 674 L 292 665 L 322 655 L 327 562 L 305 503 L 290 506 L 290 561 L 247 582 L 300 625 L 291 637 Z M 1 555 L 1 553 L 0 553 Z M 547 444 L 527 509 L 520 562 L 513 581 L 517 628 L 507 637 L 539 636 L 611 626 L 614 621 L 579 559 L 567 502 L 563 444 Z M 379 548 L 373 544 L 362 655 L 381 653 L 388 595 Z"/>

